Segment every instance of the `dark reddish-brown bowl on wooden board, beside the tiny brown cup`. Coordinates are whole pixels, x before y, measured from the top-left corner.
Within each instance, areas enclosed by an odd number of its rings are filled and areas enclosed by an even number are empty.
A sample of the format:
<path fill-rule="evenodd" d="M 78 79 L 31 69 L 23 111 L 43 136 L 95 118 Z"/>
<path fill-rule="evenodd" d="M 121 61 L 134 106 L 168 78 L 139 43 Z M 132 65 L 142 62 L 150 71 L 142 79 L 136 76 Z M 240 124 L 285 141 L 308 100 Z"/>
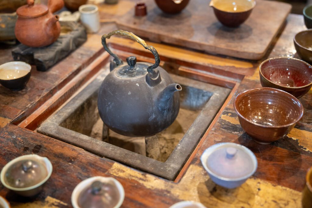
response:
<path fill-rule="evenodd" d="M 187 5 L 189 0 L 155 0 L 157 6 L 167 14 L 178 14 Z"/>

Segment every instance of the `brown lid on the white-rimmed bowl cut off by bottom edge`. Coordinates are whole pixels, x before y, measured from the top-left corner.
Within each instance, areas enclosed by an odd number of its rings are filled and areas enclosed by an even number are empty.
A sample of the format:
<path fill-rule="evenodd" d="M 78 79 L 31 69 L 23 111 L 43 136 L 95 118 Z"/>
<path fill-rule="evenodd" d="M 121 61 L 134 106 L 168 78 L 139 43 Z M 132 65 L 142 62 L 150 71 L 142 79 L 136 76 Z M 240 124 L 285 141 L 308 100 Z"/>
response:
<path fill-rule="evenodd" d="M 78 205 L 81 208 L 113 208 L 119 199 L 119 190 L 113 181 L 94 181 L 80 192 Z"/>

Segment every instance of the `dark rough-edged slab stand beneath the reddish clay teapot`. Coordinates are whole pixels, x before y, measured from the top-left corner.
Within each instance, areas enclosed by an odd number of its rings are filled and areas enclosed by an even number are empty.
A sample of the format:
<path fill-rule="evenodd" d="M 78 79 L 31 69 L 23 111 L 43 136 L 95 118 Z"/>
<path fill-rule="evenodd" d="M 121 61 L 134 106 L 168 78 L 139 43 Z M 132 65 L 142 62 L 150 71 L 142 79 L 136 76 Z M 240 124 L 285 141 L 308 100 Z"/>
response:
<path fill-rule="evenodd" d="M 75 51 L 87 40 L 85 28 L 80 23 L 60 23 L 62 31 L 67 31 L 68 33 L 63 35 L 61 31 L 57 41 L 46 47 L 32 48 L 20 44 L 12 50 L 13 59 L 36 65 L 39 71 L 46 71 L 72 51 Z"/>

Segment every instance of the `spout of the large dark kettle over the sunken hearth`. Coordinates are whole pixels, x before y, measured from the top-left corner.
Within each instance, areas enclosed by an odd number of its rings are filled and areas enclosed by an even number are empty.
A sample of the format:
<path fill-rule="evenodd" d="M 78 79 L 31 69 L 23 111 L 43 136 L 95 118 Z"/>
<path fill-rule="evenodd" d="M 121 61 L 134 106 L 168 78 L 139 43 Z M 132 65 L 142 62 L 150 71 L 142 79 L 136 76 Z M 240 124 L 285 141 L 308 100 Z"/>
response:
<path fill-rule="evenodd" d="M 181 91 L 182 87 L 179 84 L 168 85 L 158 96 L 158 107 L 160 110 L 166 110 L 172 107 L 173 95 L 176 91 Z"/>

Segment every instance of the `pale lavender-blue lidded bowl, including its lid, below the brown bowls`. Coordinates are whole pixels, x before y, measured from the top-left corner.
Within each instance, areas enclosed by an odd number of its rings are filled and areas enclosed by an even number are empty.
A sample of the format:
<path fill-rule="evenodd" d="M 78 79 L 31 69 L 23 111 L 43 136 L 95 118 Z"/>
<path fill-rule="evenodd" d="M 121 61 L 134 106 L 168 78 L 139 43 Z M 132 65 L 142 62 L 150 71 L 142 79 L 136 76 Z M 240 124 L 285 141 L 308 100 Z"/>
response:
<path fill-rule="evenodd" d="M 253 175 L 257 158 L 250 149 L 236 143 L 217 143 L 201 156 L 211 180 L 219 186 L 236 188 Z"/>

